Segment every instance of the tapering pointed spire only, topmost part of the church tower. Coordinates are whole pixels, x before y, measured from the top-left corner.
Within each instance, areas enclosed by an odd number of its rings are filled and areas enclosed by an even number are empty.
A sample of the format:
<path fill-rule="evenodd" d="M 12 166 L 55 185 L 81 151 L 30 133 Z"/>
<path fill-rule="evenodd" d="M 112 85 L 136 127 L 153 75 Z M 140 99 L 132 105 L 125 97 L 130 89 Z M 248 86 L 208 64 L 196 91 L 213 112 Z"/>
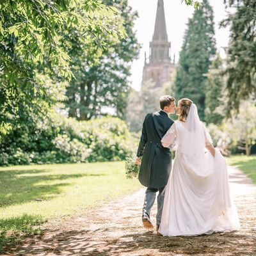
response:
<path fill-rule="evenodd" d="M 157 1 L 156 23 L 153 40 L 168 41 L 164 16 L 164 1 Z"/>

